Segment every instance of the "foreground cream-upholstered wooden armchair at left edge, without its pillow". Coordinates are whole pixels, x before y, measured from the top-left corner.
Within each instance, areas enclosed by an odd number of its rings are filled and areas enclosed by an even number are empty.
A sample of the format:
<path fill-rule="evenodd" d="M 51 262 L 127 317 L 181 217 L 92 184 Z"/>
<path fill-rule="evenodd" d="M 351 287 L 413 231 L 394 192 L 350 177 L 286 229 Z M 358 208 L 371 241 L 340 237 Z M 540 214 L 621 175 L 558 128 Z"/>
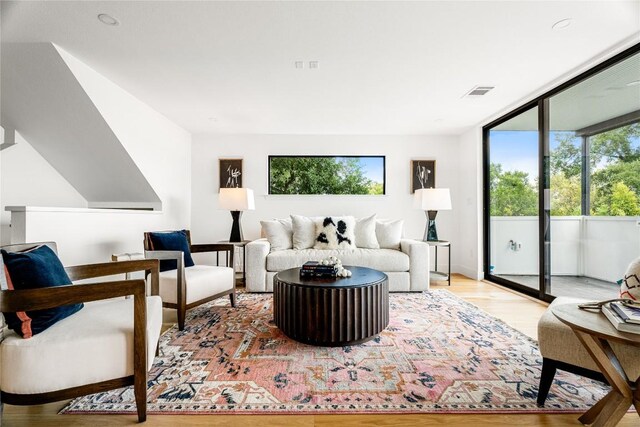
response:
<path fill-rule="evenodd" d="M 43 245 L 56 252 L 52 242 L 2 249 L 7 253 L 25 253 Z M 0 264 L 2 259 L 0 256 Z M 18 289 L 16 283 L 16 289 L 10 289 L 7 285 L 11 276 L 5 275 L 9 270 L 0 267 L 3 313 L 22 313 L 24 317 L 34 315 L 34 310 L 84 303 L 79 311 L 46 330 L 34 332 L 30 338 L 4 329 L 0 344 L 2 403 L 41 404 L 133 385 L 138 420 L 145 421 L 147 371 L 153 364 L 162 327 L 162 302 L 157 296 L 158 261 L 109 262 L 64 269 L 72 281 L 146 271 L 151 277 L 152 296 L 145 295 L 144 280 L 37 289 L 29 284 Z M 124 298 L 130 295 L 133 298 Z"/>

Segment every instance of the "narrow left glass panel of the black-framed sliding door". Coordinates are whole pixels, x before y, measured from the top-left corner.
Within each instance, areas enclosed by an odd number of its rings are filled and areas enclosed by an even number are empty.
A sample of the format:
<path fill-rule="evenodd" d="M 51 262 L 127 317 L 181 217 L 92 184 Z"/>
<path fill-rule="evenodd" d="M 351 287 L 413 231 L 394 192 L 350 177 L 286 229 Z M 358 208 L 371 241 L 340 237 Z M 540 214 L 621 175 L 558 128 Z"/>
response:
<path fill-rule="evenodd" d="M 492 128 L 488 138 L 489 272 L 539 288 L 538 108 Z"/>

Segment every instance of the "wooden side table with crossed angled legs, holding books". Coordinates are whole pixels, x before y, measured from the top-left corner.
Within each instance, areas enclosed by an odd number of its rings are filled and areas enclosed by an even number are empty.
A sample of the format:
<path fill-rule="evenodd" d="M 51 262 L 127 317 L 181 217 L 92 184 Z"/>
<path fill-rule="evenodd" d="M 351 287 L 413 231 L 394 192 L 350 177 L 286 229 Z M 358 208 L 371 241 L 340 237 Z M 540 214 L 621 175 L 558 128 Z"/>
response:
<path fill-rule="evenodd" d="M 635 381 L 627 378 L 610 345 L 619 342 L 636 346 L 640 355 L 640 335 L 619 332 L 602 312 L 581 310 L 577 304 L 560 305 L 552 310 L 573 330 L 612 388 L 579 421 L 596 427 L 615 426 L 631 405 L 640 415 L 640 377 Z"/>

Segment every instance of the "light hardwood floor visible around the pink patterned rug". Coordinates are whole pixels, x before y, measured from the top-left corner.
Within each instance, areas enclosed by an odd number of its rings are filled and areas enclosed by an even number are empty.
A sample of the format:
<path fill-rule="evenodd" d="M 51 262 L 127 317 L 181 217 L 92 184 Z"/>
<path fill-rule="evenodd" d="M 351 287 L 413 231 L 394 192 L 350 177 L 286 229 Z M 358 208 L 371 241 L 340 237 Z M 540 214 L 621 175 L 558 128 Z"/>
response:
<path fill-rule="evenodd" d="M 462 276 L 453 277 L 448 289 L 514 328 L 536 338 L 538 318 L 546 304 L 497 285 Z M 3 426 L 113 426 L 134 425 L 134 415 L 57 415 L 66 402 L 16 407 L 5 405 Z M 517 415 L 149 415 L 146 426 L 579 426 L 579 414 Z M 625 415 L 619 426 L 640 425 L 635 413 Z"/>

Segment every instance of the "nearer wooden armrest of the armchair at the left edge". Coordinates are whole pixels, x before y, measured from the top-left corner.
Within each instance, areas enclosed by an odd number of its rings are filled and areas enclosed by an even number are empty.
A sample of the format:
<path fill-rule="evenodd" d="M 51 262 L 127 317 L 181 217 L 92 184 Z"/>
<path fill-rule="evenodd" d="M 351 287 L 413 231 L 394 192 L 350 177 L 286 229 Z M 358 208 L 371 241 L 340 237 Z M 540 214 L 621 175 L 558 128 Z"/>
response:
<path fill-rule="evenodd" d="M 144 280 L 137 279 L 1 291 L 0 311 L 15 313 L 18 311 L 44 310 L 127 295 L 133 295 L 134 298 L 144 300 L 145 288 Z M 144 305 L 146 306 L 146 302 L 144 302 Z"/>

